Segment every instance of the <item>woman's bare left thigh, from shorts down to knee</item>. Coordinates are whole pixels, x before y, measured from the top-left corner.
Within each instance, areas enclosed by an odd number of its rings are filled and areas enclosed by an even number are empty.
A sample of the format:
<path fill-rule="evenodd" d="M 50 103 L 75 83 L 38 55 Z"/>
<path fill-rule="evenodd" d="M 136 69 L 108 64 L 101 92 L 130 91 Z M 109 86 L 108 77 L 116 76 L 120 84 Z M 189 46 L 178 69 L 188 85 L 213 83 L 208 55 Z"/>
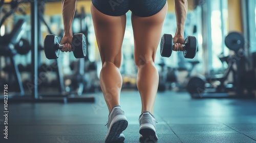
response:
<path fill-rule="evenodd" d="M 126 15 L 109 16 L 101 13 L 91 5 L 97 44 L 102 64 L 113 62 L 118 68 L 121 65 L 121 46 L 124 37 Z"/>

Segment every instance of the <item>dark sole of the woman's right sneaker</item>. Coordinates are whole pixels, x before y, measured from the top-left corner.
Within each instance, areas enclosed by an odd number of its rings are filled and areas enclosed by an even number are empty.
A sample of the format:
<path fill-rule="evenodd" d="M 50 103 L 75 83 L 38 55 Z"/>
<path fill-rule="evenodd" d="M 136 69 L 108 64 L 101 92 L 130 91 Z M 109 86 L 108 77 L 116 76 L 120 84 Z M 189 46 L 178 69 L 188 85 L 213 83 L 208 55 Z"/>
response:
<path fill-rule="evenodd" d="M 140 137 L 140 141 L 151 141 L 151 142 L 157 142 L 157 135 L 156 132 L 149 128 L 140 129 L 140 134 L 142 135 Z"/>

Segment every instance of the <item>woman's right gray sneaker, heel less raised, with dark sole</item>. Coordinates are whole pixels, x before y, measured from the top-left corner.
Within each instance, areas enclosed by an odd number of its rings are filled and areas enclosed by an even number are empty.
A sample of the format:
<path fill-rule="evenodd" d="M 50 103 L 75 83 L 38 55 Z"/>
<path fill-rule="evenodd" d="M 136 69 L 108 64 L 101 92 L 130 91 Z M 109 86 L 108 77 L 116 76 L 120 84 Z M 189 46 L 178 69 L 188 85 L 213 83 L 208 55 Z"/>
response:
<path fill-rule="evenodd" d="M 148 111 L 144 111 L 139 117 L 140 123 L 140 141 L 142 140 L 151 140 L 156 142 L 158 137 L 156 134 L 156 119 Z"/>

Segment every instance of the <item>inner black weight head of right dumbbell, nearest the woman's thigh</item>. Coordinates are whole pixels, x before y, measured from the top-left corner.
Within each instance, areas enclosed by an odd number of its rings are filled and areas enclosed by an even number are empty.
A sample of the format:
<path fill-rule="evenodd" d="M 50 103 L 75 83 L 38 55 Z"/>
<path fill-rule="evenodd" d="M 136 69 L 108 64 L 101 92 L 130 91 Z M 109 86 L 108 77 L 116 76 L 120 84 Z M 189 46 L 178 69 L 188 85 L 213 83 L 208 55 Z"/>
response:
<path fill-rule="evenodd" d="M 163 34 L 160 44 L 160 53 L 162 57 L 170 57 L 173 52 L 173 36 Z"/>

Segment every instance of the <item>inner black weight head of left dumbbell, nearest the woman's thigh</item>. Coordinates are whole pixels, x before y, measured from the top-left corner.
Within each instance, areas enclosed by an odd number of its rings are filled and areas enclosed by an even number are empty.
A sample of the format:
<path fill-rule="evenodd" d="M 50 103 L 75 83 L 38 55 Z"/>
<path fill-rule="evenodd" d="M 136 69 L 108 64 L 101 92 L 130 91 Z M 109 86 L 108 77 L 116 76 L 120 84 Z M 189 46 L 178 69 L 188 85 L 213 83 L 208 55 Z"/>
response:
<path fill-rule="evenodd" d="M 84 58 L 87 54 L 86 36 L 82 33 L 74 34 L 72 48 L 75 58 Z"/>

